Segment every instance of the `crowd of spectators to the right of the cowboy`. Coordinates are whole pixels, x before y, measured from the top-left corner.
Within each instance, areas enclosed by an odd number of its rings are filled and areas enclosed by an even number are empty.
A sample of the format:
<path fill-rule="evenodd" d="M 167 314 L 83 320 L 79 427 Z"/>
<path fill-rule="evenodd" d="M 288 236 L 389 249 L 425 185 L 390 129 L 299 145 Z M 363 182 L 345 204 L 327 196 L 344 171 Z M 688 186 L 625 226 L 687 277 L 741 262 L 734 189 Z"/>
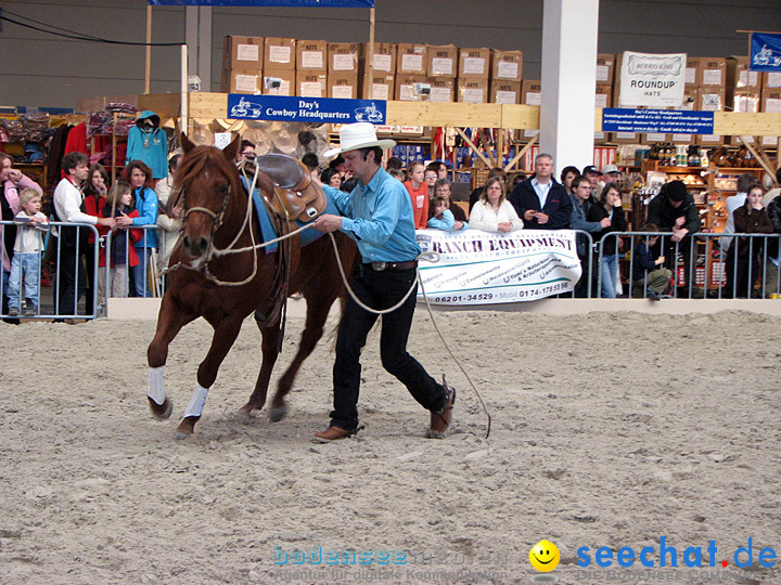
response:
<path fill-rule="evenodd" d="M 573 166 L 564 167 L 560 180 L 553 177 L 553 159 L 541 154 L 535 159 L 534 173 L 508 177 L 501 168 L 490 169 L 485 184 L 475 188 L 469 197 L 469 219 L 460 202 L 453 202 L 452 187 L 447 179 L 447 166 L 434 161 L 425 166 L 422 160 L 413 161 L 402 174 L 402 164 L 397 158 L 387 161 L 389 172 L 401 180 L 410 195 L 415 211 L 417 229 L 461 231 L 476 229 L 487 232 L 510 232 L 514 230 L 576 230 L 588 236 L 577 235 L 577 253 L 582 276 L 575 287 L 575 297 L 615 298 L 623 294 L 657 300 L 675 294 L 688 297 L 694 287 L 693 260 L 696 258 L 693 235 L 700 232 L 702 222 L 693 195 L 681 181 L 671 181 L 648 205 L 646 223 L 639 227 L 643 236 L 633 240 L 627 237 L 603 237 L 628 231 L 624 203 L 628 194 L 622 186 L 622 172 L 615 165 L 605 165 L 600 171 L 587 166 L 580 171 Z M 437 179 L 438 177 L 438 179 Z M 777 172 L 781 181 L 781 170 Z M 488 193 L 489 187 L 491 193 Z M 755 197 L 748 204 L 752 190 L 765 194 L 751 173 L 740 177 L 738 194 L 727 202 L 729 220 L 725 234 L 757 233 L 781 234 L 781 198 L 776 192 L 765 200 Z M 771 192 L 772 194 L 772 192 Z M 465 204 L 466 202 L 464 202 Z M 628 203 L 628 202 L 627 202 Z M 765 209 L 767 207 L 767 209 Z M 739 212 L 740 224 L 735 232 L 733 213 Z M 424 218 L 427 220 L 424 221 Z M 638 227 L 635 227 L 637 231 Z M 661 233 L 661 235 L 653 235 Z M 764 239 L 743 237 L 739 251 L 730 251 L 730 237 L 720 238 L 721 253 L 726 258 L 727 285 L 720 295 L 747 298 L 754 292 L 763 266 Z M 600 244 L 603 242 L 603 244 Z M 642 244 L 642 246 L 640 246 Z M 600 245 L 603 246 L 600 255 Z M 619 258 L 633 255 L 631 274 L 627 281 L 631 292 L 624 290 L 620 280 Z M 770 239 L 767 250 L 768 262 L 764 270 L 765 289 L 779 292 L 778 239 Z M 598 258 L 601 260 L 598 262 Z M 678 271 L 681 266 L 682 272 Z M 592 289 L 588 290 L 589 266 L 591 266 Z M 676 280 L 679 275 L 682 278 Z M 737 278 L 737 280 L 735 280 Z M 597 283 L 601 282 L 600 290 Z M 678 282 L 677 290 L 673 285 Z"/>

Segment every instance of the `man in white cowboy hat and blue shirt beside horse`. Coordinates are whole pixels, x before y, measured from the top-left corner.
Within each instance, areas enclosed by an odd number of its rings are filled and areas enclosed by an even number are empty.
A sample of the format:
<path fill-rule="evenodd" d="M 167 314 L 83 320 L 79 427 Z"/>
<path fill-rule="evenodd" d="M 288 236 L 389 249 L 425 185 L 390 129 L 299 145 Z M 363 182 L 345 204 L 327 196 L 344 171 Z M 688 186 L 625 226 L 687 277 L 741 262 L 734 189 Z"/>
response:
<path fill-rule="evenodd" d="M 394 144 L 392 140 L 377 140 L 371 123 L 343 126 L 340 148 L 327 152 L 325 156 L 342 154 L 358 185 L 351 193 L 324 185 L 340 214 L 323 214 L 315 221 L 315 227 L 321 232 L 341 230 L 358 243 L 361 264 L 351 286 L 361 302 L 374 310 L 389 309 L 410 292 L 421 253 L 407 190 L 381 167 L 383 148 Z M 417 286 L 398 309 L 383 314 L 380 354 L 383 367 L 431 411 L 428 437 L 439 439 L 450 424 L 456 390 L 437 384 L 407 352 L 415 291 Z M 320 442 L 344 439 L 358 430 L 360 353 L 376 318 L 375 313 L 347 298 L 336 338 L 334 410 L 331 426 L 315 434 Z"/>

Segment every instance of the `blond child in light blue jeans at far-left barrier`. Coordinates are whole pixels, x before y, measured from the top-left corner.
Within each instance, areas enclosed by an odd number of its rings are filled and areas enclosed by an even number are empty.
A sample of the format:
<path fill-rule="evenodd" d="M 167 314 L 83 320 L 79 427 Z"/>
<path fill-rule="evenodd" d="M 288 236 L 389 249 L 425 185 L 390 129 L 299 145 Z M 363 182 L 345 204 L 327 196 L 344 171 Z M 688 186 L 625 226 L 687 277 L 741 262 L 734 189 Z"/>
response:
<path fill-rule="evenodd" d="M 34 188 L 20 193 L 22 210 L 14 221 L 22 225 L 16 230 L 14 256 L 11 260 L 11 276 L 8 285 L 9 316 L 35 316 L 38 314 L 38 273 L 40 252 L 43 249 L 43 232 L 49 221 L 40 212 L 41 197 Z M 22 308 L 22 282 L 24 282 L 25 307 Z"/>

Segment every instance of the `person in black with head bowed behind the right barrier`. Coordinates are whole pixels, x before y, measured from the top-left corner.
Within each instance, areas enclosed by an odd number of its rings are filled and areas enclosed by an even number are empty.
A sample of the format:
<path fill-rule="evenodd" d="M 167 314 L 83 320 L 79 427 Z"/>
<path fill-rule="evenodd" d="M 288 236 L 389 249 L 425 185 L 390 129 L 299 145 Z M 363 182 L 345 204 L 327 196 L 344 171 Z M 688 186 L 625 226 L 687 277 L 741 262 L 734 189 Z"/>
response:
<path fill-rule="evenodd" d="M 700 231 L 700 211 L 694 197 L 687 191 L 683 181 L 670 181 L 662 186 L 662 191 L 649 204 L 648 223 L 658 226 L 660 232 L 673 232 L 671 236 L 662 238 L 661 253 L 667 260 L 667 268 L 677 274 L 676 251 L 683 257 L 686 286 L 678 288 L 678 297 L 688 297 L 693 287 L 691 245 L 692 235 Z M 657 245 L 658 246 L 658 245 Z"/>

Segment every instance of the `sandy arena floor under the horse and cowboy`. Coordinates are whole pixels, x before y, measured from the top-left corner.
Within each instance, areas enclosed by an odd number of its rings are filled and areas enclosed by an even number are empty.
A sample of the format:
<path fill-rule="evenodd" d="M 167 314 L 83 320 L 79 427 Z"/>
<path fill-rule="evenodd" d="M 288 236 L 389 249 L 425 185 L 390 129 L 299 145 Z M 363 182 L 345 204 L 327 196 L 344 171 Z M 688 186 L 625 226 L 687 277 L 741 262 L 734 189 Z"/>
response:
<path fill-rule="evenodd" d="M 441 441 L 423 438 L 427 413 L 380 366 L 376 334 L 363 359 L 366 430 L 316 445 L 330 343 L 305 364 L 285 420 L 247 419 L 234 413 L 257 376 L 260 336 L 246 323 L 195 435 L 176 441 L 210 339 L 203 321 L 171 346 L 165 421 L 146 407 L 153 322 L 0 324 L 0 583 L 528 583 L 541 576 L 528 551 L 542 538 L 561 550 L 548 574 L 559 583 L 781 582 L 778 566 L 758 562 L 765 547 L 781 554 L 780 318 L 437 320 L 494 417 L 488 440 L 421 310 L 410 351 L 459 389 Z M 300 326 L 289 324 L 281 363 Z M 678 552 L 673 576 L 658 569 L 662 536 Z M 750 537 L 753 566 L 739 569 L 734 551 Z M 716 567 L 683 567 L 688 547 L 707 564 L 709 541 Z M 613 581 L 596 571 L 600 546 L 614 551 Z M 656 569 L 616 564 L 620 547 L 646 546 Z M 581 547 L 588 569 L 576 564 Z M 373 562 L 325 564 L 345 550 Z"/>

